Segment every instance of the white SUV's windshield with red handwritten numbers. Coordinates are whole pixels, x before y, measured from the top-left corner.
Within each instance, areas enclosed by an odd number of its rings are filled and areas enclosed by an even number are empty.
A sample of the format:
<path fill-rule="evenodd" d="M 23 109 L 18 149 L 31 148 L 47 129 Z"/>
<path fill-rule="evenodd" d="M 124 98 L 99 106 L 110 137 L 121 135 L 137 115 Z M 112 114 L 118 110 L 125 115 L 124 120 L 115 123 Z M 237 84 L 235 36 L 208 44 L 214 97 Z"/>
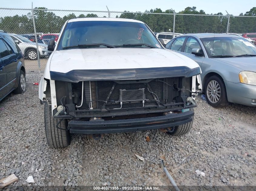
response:
<path fill-rule="evenodd" d="M 77 21 L 68 23 L 62 34 L 58 50 L 87 44 L 110 46 L 161 48 L 155 35 L 143 23 L 123 21 Z M 139 44 L 139 45 L 135 45 Z M 146 45 L 149 46 L 146 46 Z M 123 46 L 126 45 L 126 46 Z M 128 45 L 128 46 L 127 46 Z M 79 48 L 109 48 L 110 46 L 79 46 Z"/>

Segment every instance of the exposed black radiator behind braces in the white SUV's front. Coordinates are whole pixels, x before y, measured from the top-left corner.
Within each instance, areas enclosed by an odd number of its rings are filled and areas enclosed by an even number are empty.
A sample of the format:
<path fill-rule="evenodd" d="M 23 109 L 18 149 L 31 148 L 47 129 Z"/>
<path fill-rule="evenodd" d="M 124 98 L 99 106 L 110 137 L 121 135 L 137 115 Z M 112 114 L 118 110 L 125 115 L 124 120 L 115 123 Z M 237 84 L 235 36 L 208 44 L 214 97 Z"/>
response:
<path fill-rule="evenodd" d="M 86 107 L 89 109 L 88 105 L 92 100 L 90 107 L 101 109 L 104 105 L 103 101 L 108 97 L 114 83 L 114 81 L 91 81 L 90 88 L 90 82 L 85 81 L 84 95 Z M 162 102 L 163 98 L 167 96 L 166 87 L 163 82 L 153 80 L 148 84 L 151 90 L 158 96 L 160 102 Z M 154 100 L 145 83 L 116 84 L 105 107 L 110 110 L 120 108 L 120 102 L 123 102 L 122 108 L 143 107 L 147 105 L 158 106 Z"/>

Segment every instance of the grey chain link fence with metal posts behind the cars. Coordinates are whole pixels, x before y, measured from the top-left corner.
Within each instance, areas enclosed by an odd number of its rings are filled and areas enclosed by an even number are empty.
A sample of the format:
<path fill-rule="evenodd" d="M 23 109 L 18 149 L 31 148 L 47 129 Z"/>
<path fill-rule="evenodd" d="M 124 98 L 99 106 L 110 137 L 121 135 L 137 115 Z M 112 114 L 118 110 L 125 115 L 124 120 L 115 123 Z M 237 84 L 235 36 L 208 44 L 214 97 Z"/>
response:
<path fill-rule="evenodd" d="M 51 54 L 47 50 L 48 39 L 57 40 L 63 24 L 68 19 L 84 17 L 135 19 L 145 22 L 154 32 L 256 32 L 256 17 L 248 16 L 12 8 L 0 8 L 0 30 L 10 33 L 13 40 L 18 43 L 25 56 L 27 71 L 44 71 Z"/>

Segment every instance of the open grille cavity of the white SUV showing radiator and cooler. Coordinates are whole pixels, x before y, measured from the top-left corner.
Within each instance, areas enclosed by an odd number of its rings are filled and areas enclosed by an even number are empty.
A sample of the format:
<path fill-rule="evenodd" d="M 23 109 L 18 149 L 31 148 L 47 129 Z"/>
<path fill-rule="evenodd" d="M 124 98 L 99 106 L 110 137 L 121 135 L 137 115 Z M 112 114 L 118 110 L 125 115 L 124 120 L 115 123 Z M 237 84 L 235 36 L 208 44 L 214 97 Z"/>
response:
<path fill-rule="evenodd" d="M 182 79 L 182 77 L 177 77 L 125 81 L 84 81 L 84 104 L 81 109 L 89 110 L 92 107 L 93 110 L 98 109 L 99 111 L 113 109 L 128 111 L 135 108 L 158 108 L 160 105 L 168 103 L 180 103 L 182 99 L 177 88 L 182 88 Z"/>

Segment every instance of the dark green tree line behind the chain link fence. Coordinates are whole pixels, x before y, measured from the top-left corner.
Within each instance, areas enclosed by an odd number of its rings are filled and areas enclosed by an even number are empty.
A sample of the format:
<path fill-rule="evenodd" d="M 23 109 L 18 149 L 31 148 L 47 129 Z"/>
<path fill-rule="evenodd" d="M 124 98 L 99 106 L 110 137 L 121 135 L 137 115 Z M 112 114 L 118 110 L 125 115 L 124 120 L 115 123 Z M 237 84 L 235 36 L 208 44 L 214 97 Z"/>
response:
<path fill-rule="evenodd" d="M 36 9 L 47 9 L 39 7 Z M 63 11 L 58 11 L 63 13 Z M 162 11 L 160 8 L 146 10 L 144 13 L 124 13 L 117 14 L 116 18 L 136 19 L 145 22 L 154 32 L 169 32 L 173 30 L 173 15 L 151 14 L 151 13 L 173 13 L 171 9 Z M 113 16 L 114 13 L 111 13 Z M 176 14 L 196 14 L 196 15 L 176 15 L 175 32 L 176 33 L 225 33 L 228 24 L 228 17 L 221 12 L 216 14 L 206 14 L 203 10 L 197 11 L 196 7 L 187 7 Z M 200 16 L 201 15 L 201 16 Z M 202 16 L 208 15 L 208 16 Z M 213 16 L 215 15 L 215 16 Z M 256 7 L 250 9 L 245 14 L 239 16 L 256 16 Z M 97 14 L 79 14 L 71 13 L 63 17 L 56 15 L 53 11 L 35 10 L 35 25 L 37 32 L 41 33 L 59 33 L 63 24 L 68 19 L 98 17 Z M 104 16 L 105 17 L 105 16 Z M 34 33 L 32 14 L 5 16 L 0 18 L 0 29 L 8 33 Z M 255 17 L 234 17 L 230 16 L 230 33 L 249 33 L 256 32 Z"/>

